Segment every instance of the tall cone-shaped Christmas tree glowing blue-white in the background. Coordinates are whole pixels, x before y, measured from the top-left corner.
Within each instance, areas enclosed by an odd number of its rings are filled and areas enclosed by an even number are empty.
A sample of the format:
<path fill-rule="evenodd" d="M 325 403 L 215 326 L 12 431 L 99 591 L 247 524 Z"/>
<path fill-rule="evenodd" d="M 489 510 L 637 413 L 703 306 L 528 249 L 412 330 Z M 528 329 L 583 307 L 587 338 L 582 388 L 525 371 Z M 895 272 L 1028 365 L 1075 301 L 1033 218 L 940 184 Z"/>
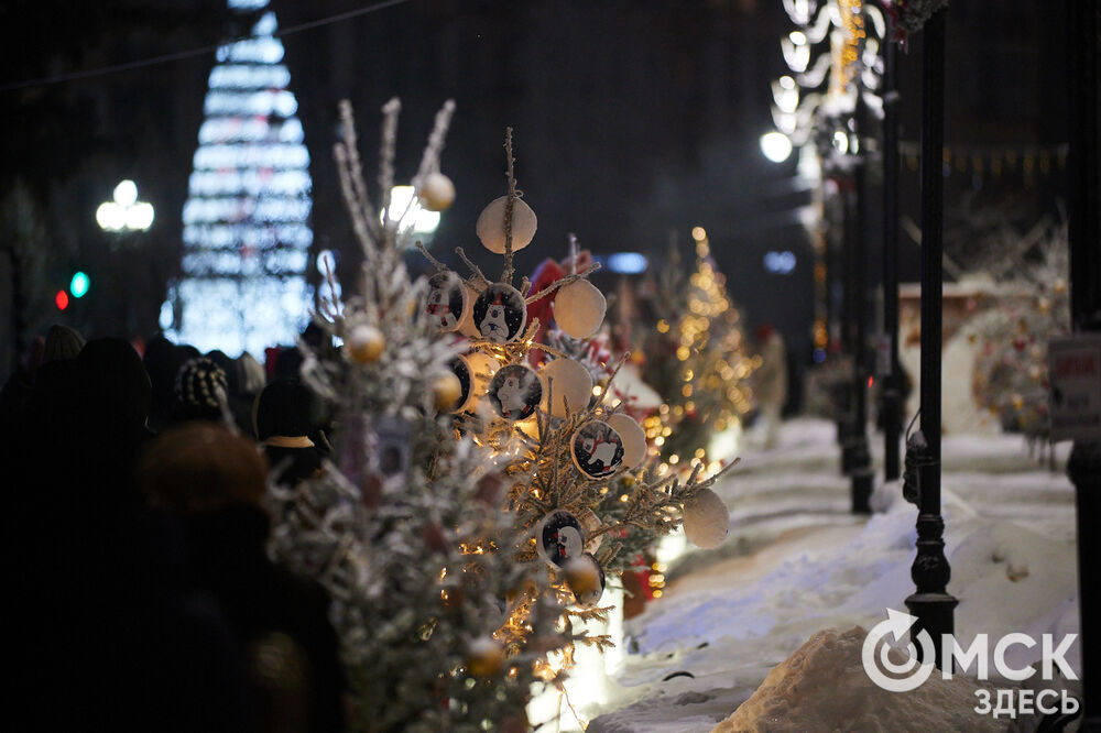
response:
<path fill-rule="evenodd" d="M 183 277 L 161 326 L 203 351 L 294 343 L 306 325 L 309 154 L 268 0 L 228 0 L 248 37 L 218 48 L 184 206 Z"/>

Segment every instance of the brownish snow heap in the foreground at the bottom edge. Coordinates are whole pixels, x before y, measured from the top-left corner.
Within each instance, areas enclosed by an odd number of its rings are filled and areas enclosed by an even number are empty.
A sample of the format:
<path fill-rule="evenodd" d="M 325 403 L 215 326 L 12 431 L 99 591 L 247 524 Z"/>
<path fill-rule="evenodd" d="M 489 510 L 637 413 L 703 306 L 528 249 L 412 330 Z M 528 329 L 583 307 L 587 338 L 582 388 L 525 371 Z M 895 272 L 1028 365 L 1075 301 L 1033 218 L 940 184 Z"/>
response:
<path fill-rule="evenodd" d="M 933 675 L 911 692 L 876 687 L 860 660 L 866 635 L 859 626 L 817 632 L 712 733 L 1005 730 L 1004 722 L 974 712 L 979 686 L 962 677 Z"/>

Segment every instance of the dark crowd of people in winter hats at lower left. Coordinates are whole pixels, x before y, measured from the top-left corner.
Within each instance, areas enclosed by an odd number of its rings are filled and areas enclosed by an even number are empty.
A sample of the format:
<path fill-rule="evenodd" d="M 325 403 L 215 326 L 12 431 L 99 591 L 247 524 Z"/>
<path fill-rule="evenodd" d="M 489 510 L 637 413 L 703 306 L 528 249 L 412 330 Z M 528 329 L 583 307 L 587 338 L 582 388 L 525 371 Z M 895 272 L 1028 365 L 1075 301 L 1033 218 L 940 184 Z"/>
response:
<path fill-rule="evenodd" d="M 4 384 L 18 730 L 344 729 L 328 598 L 266 554 L 326 419 L 269 361 L 55 325 Z"/>

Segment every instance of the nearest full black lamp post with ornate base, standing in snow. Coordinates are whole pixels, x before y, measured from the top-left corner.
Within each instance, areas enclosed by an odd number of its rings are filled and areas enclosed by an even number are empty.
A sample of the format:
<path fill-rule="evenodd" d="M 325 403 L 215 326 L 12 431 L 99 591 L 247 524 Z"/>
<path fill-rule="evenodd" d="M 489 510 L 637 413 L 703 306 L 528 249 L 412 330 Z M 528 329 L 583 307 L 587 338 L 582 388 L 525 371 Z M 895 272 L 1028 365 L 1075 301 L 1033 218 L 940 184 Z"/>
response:
<path fill-rule="evenodd" d="M 948 593 L 951 568 L 945 557 L 945 521 L 940 515 L 940 361 L 944 294 L 945 26 L 940 9 L 924 29 L 922 54 L 922 425 L 914 459 L 917 470 L 917 557 L 911 576 L 917 590 L 906 608 L 917 616 L 911 633 L 927 631 L 934 641 L 951 634 L 958 601 Z M 917 446 L 914 446 L 917 448 Z M 936 665 L 951 665 L 940 658 Z M 929 661 L 923 659 L 923 661 Z"/>

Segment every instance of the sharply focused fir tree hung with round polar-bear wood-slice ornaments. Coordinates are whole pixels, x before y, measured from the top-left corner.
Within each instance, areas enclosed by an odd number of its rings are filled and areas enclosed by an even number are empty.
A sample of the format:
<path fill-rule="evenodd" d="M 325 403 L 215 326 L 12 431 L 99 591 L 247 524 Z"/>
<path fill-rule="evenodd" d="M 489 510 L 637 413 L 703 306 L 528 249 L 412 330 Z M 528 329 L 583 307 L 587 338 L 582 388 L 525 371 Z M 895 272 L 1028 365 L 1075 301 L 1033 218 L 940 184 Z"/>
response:
<path fill-rule="evenodd" d="M 597 265 L 579 266 L 584 260 L 574 253 L 560 277 L 538 288 L 526 277 L 514 286 L 513 254 L 534 239 L 537 219 L 516 190 L 511 130 L 505 153 L 508 194 L 478 219 L 482 244 L 503 258 L 501 276 L 487 277 L 459 248 L 469 270 L 462 277 L 421 248 L 436 267 L 424 308 L 443 330 L 468 337 L 466 353 L 454 362 L 465 385 L 456 430 L 487 448 L 508 477 L 506 508 L 514 529 L 528 537 L 515 560 L 546 576 L 547 590 L 533 587 L 528 599 L 549 594 L 573 628 L 606 620 L 608 609 L 598 604 L 607 577 L 633 557 L 623 551 L 626 541 L 651 544 L 682 521 L 701 545 L 721 541 L 728 515 L 710 485 L 724 469 L 702 479 L 697 463 L 682 481 L 668 467 L 646 464 L 645 433 L 615 396 L 625 355 L 601 360 L 610 354 L 595 339 L 607 306 L 587 280 Z M 554 328 L 539 341 L 541 324 L 528 308 L 552 297 L 542 313 L 550 314 Z M 525 635 L 524 613 L 516 608 L 505 630 Z M 548 668 L 568 668 L 574 644 L 582 641 L 609 643 L 567 639 Z"/>

